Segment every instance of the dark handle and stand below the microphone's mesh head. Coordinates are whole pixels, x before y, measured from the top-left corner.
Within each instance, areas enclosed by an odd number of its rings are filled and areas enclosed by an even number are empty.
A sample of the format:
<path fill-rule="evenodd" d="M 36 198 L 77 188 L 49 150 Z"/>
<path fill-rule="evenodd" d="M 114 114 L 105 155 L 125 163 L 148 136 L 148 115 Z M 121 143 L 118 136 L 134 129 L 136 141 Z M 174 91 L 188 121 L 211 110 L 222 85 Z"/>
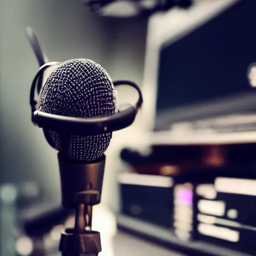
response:
<path fill-rule="evenodd" d="M 92 206 L 101 198 L 105 155 L 94 162 L 65 159 L 58 153 L 62 205 L 75 209 L 75 224 L 61 233 L 62 256 L 97 256 L 100 233 L 91 229 Z"/>

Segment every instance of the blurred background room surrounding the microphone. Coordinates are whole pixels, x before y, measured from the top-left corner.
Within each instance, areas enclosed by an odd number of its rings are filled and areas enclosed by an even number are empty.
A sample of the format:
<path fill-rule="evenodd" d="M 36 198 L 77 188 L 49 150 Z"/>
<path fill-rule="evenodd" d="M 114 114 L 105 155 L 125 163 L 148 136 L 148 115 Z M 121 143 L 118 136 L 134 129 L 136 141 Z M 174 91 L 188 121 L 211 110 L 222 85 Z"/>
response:
<path fill-rule="evenodd" d="M 30 121 L 27 26 L 50 61 L 92 59 L 142 90 L 105 152 L 99 255 L 256 255 L 255 21 L 255 0 L 1 0 L 0 255 L 60 255 L 73 223 Z"/>

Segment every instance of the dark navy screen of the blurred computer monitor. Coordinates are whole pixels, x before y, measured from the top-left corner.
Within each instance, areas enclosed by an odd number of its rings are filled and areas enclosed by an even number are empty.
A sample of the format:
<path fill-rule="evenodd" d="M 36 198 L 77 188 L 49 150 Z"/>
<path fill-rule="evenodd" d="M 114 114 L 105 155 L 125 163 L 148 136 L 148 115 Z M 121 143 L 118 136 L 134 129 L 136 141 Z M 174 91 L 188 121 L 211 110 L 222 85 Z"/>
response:
<path fill-rule="evenodd" d="M 255 24 L 256 0 L 242 0 L 179 40 L 165 42 L 159 52 L 156 118 L 220 97 L 254 94 L 247 69 L 256 61 Z"/>

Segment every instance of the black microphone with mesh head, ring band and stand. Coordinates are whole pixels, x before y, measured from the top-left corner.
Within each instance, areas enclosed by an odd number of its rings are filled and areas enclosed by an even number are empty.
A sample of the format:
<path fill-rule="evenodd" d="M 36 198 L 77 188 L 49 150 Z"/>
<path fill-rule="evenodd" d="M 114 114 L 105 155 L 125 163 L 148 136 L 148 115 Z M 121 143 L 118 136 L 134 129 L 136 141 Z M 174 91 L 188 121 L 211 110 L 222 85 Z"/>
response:
<path fill-rule="evenodd" d="M 56 64 L 58 67 L 41 86 L 37 104 L 36 82 L 45 69 Z M 114 86 L 121 84 L 137 90 L 135 106 L 117 101 Z M 141 104 L 137 84 L 112 82 L 107 72 L 89 59 L 48 62 L 36 73 L 30 89 L 31 119 L 58 150 L 62 205 L 76 209 L 74 228 L 61 234 L 59 248 L 63 256 L 97 255 L 101 251 L 100 235 L 91 230 L 91 219 L 92 205 L 101 198 L 104 151 L 112 132 L 129 126 Z"/>

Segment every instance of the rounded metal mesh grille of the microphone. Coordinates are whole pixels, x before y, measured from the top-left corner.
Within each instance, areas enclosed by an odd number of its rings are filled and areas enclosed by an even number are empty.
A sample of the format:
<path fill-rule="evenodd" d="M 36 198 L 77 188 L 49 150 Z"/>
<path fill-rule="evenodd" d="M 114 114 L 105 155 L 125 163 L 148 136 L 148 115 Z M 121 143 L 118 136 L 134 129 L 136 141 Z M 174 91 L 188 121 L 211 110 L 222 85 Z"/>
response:
<path fill-rule="evenodd" d="M 117 111 L 116 94 L 107 72 L 88 59 L 63 62 L 47 78 L 39 96 L 39 110 L 64 116 L 89 117 Z M 92 161 L 106 150 L 111 133 L 68 137 L 63 148 L 63 134 L 49 131 L 54 147 L 71 159 Z M 67 153 L 66 153 L 67 152 Z"/>

